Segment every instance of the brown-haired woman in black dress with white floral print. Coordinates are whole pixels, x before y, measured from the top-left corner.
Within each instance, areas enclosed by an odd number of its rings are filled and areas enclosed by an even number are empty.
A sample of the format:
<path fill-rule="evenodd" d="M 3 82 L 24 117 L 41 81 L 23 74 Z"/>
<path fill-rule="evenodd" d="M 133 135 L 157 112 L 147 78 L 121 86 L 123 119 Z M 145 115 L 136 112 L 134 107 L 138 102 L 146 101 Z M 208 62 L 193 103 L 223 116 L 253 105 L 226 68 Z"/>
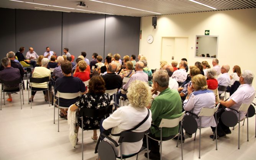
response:
<path fill-rule="evenodd" d="M 85 62 L 85 61 L 84 61 Z M 86 62 L 85 62 L 86 63 Z M 83 94 L 79 100 L 75 102 L 70 108 L 71 111 L 75 111 L 77 109 L 82 108 L 90 108 L 90 109 L 102 109 L 110 105 L 110 96 L 108 93 L 105 93 L 105 82 L 102 77 L 94 76 L 89 81 L 89 91 L 86 94 Z M 98 118 L 89 118 L 84 117 L 84 129 L 87 128 L 95 128 L 98 127 L 100 121 L 102 119 L 107 118 L 107 115 L 104 117 Z M 82 120 L 77 117 L 77 124 L 76 124 L 76 133 L 78 133 L 79 126 L 82 128 Z M 97 130 L 94 130 L 92 139 L 97 141 Z"/>

